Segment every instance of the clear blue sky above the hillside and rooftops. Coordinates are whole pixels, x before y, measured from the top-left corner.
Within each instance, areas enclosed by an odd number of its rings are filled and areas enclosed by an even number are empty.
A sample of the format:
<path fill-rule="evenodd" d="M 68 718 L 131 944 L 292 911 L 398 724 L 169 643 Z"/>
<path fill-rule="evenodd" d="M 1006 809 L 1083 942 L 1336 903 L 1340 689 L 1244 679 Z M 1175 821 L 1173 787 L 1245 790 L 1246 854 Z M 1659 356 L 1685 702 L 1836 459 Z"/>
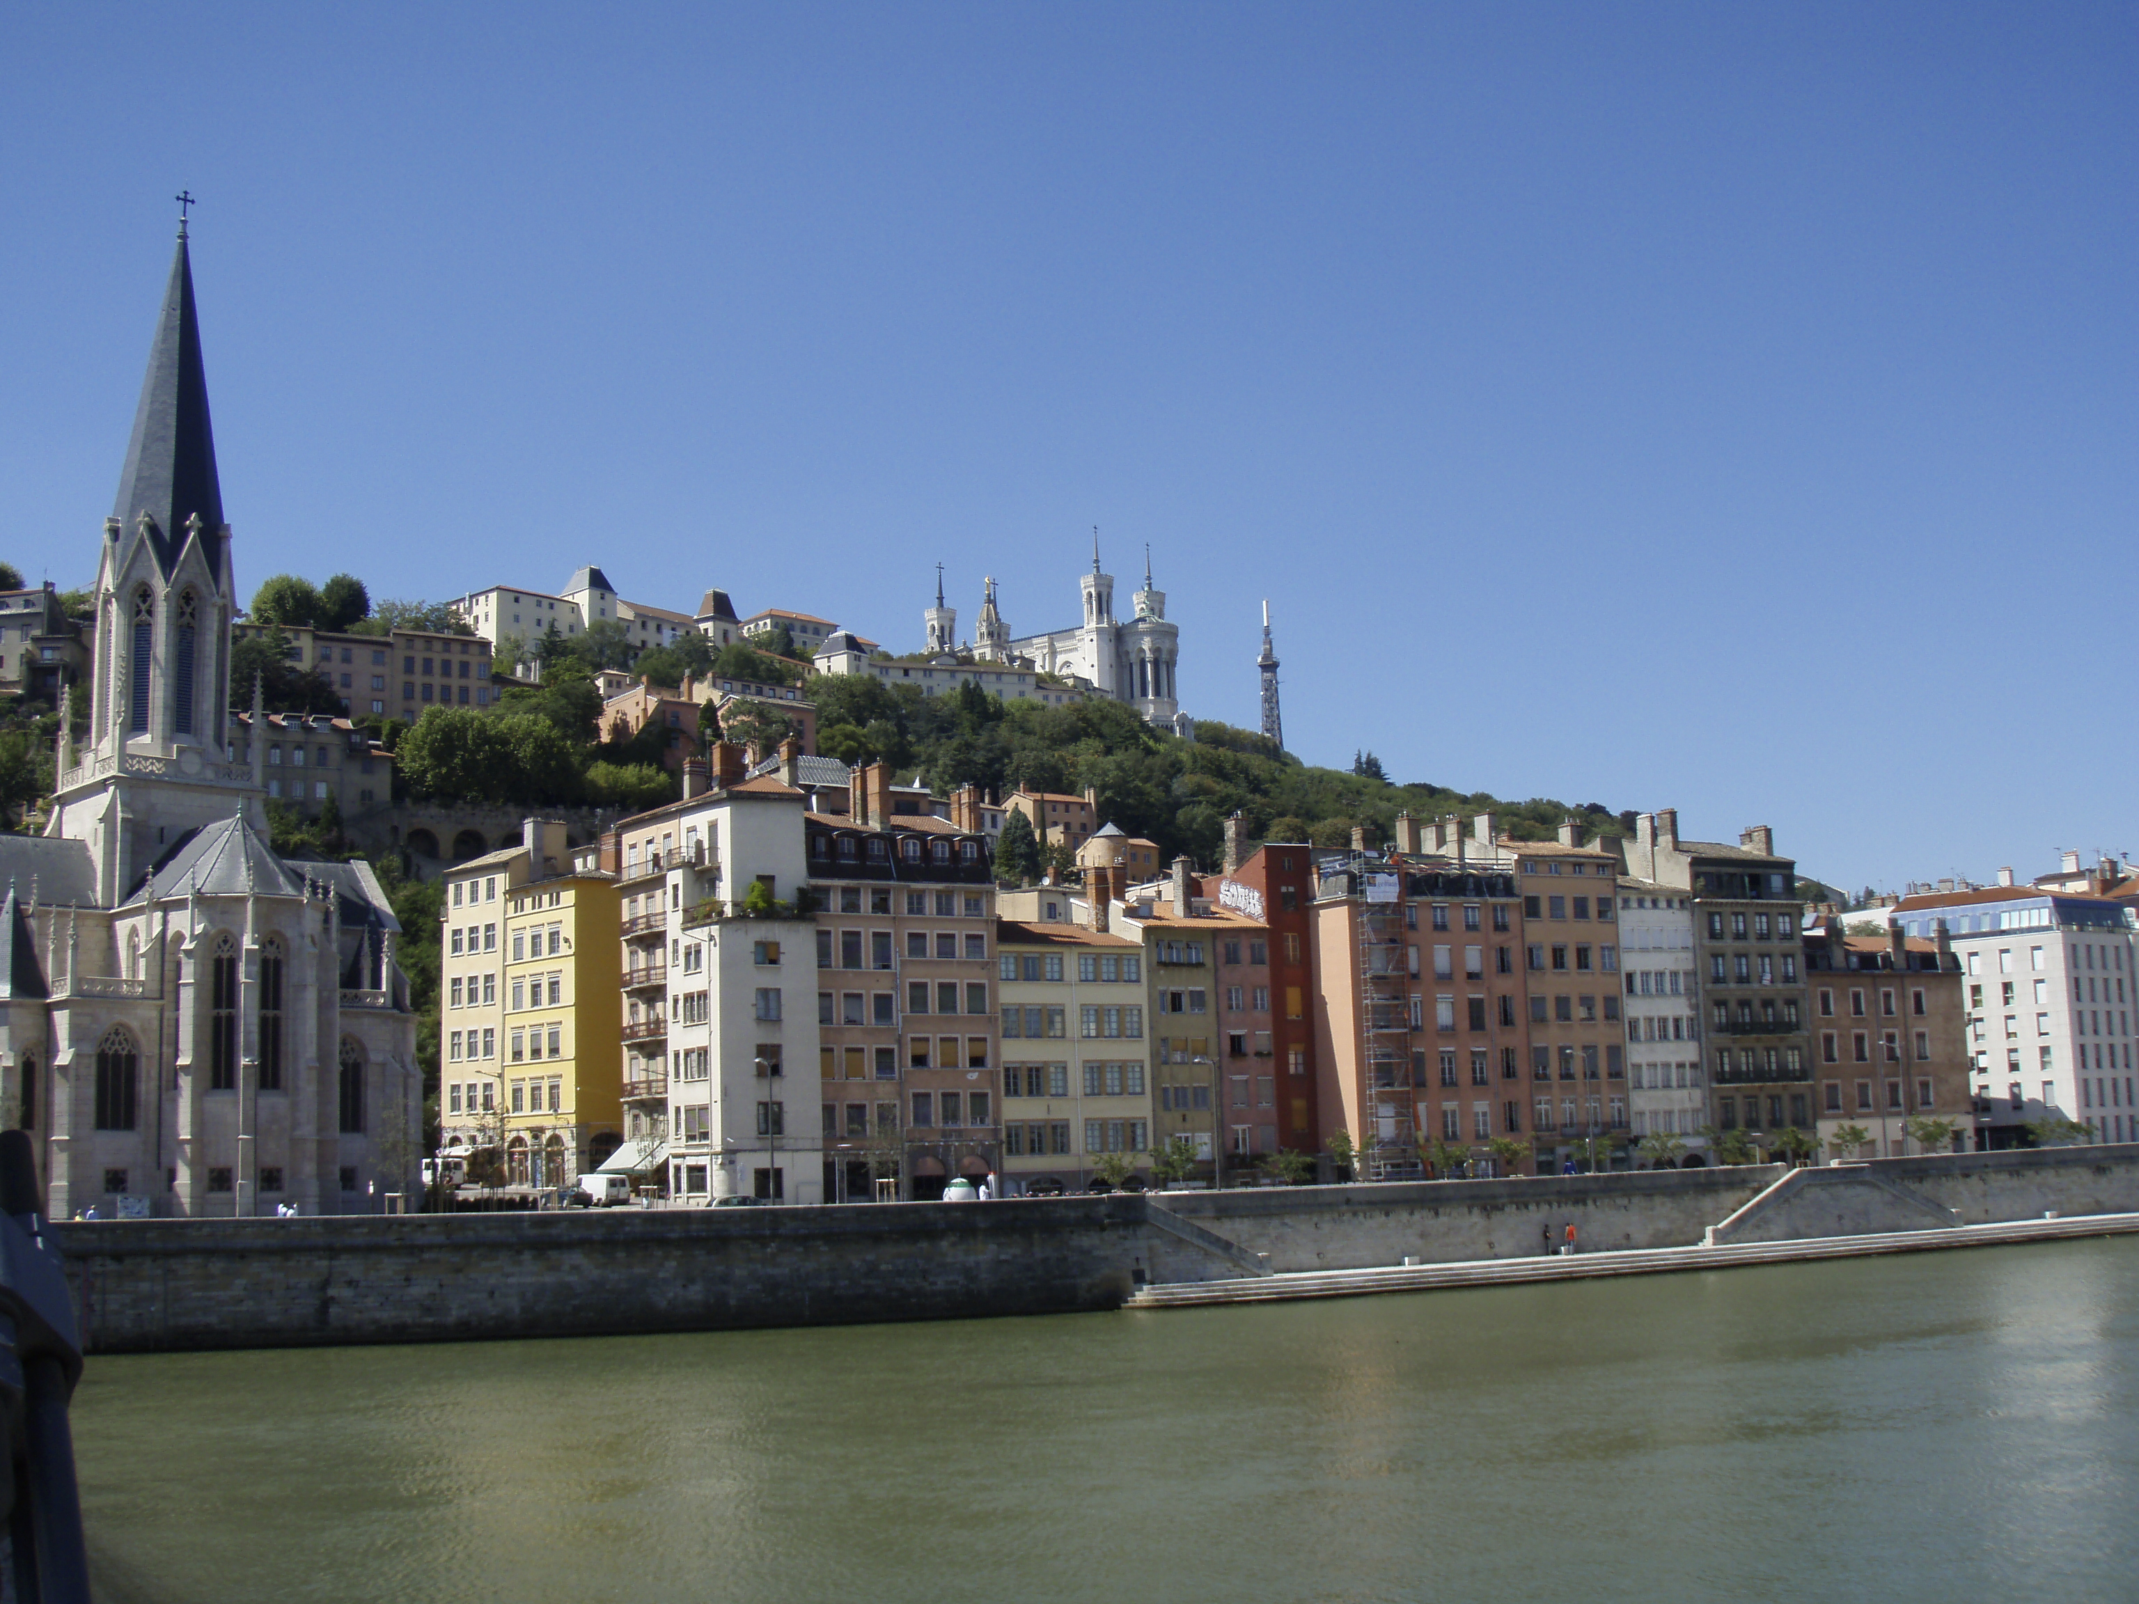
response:
<path fill-rule="evenodd" d="M 2139 853 L 2139 9 L 11 6 L 0 554 L 90 577 L 190 186 L 240 584 L 913 646 L 1153 547 L 1191 714 Z M 1127 586 L 1123 586 L 1125 590 Z"/>

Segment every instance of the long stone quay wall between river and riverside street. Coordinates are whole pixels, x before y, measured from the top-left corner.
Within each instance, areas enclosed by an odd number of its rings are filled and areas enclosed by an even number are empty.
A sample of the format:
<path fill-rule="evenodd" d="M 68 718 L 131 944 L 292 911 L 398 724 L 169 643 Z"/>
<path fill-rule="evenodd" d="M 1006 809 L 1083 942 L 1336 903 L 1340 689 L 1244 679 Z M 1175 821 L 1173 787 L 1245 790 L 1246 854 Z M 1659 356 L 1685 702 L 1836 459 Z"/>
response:
<path fill-rule="evenodd" d="M 88 1352 L 1117 1309 L 1144 1281 L 2139 1210 L 2139 1146 L 988 1204 L 66 1221 Z M 1957 1217 L 1957 1221 L 1955 1221 Z"/>

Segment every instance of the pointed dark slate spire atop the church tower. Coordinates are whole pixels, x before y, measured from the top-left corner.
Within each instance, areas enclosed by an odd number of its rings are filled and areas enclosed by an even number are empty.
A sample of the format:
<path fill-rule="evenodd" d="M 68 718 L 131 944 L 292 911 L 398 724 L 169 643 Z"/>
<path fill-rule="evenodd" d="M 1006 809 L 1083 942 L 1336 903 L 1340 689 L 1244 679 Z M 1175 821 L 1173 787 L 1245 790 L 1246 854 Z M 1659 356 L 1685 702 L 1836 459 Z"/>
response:
<path fill-rule="evenodd" d="M 184 222 L 111 509 L 128 533 L 141 513 L 156 524 L 156 560 L 165 573 L 186 543 L 186 520 L 195 515 L 201 520 L 203 556 L 210 569 L 220 569 L 222 485 L 216 479 L 216 436 L 207 423 L 207 372 L 201 368 L 201 323 L 193 310 Z"/>

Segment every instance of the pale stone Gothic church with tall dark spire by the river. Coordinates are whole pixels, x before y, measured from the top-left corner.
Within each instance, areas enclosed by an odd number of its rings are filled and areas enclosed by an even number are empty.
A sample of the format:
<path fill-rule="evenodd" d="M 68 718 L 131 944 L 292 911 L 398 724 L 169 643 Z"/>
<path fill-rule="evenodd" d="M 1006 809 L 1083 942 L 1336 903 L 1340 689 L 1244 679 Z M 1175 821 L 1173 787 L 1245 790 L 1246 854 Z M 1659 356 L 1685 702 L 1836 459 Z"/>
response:
<path fill-rule="evenodd" d="M 88 729 L 62 729 L 45 834 L 0 836 L 0 1116 L 47 1210 L 413 1206 L 400 926 L 368 864 L 270 847 L 265 770 L 308 731 L 257 691 L 229 712 L 240 603 L 184 222 L 92 595 Z"/>

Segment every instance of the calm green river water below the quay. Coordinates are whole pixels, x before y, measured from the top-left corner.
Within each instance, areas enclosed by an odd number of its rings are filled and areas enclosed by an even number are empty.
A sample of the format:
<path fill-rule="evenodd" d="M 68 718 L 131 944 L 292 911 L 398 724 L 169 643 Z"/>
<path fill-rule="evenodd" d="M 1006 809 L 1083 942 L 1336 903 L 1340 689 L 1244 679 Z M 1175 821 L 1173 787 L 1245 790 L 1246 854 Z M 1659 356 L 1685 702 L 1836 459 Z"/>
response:
<path fill-rule="evenodd" d="M 2139 1238 L 98 1358 L 105 1604 L 2118 1600 Z"/>

